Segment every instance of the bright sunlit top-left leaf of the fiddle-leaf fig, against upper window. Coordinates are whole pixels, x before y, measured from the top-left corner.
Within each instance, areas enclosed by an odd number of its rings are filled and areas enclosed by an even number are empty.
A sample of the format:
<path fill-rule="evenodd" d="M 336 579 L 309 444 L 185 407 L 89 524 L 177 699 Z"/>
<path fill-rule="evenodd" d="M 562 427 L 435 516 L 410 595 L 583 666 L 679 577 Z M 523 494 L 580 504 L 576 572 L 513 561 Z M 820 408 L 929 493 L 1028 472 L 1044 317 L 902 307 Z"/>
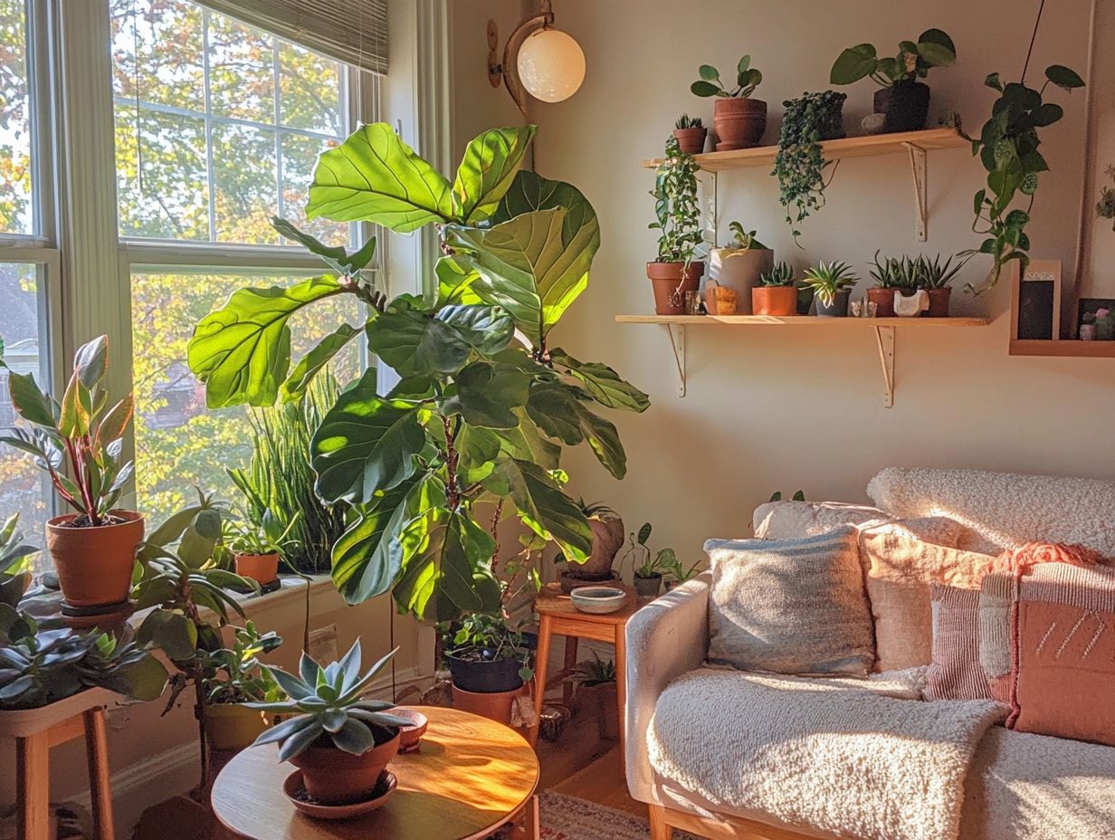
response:
<path fill-rule="evenodd" d="M 374 222 L 409 233 L 454 219 L 449 182 L 387 123 L 358 128 L 318 158 L 308 219 Z"/>

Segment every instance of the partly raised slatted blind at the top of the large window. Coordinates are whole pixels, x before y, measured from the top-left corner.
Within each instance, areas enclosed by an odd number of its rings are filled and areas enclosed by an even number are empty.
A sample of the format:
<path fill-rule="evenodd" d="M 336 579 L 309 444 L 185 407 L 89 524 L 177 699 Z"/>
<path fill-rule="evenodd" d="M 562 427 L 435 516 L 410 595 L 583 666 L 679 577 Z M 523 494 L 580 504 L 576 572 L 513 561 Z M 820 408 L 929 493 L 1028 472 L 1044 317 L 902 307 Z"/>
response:
<path fill-rule="evenodd" d="M 197 0 L 339 61 L 387 73 L 387 0 Z"/>

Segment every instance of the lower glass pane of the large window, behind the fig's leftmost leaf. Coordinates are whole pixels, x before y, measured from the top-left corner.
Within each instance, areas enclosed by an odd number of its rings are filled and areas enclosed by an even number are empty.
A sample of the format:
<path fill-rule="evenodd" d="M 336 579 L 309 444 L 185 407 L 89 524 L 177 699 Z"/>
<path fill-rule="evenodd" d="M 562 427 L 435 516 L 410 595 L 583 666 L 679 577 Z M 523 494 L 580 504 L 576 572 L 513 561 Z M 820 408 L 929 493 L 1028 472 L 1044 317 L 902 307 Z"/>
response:
<path fill-rule="evenodd" d="M 186 365 L 194 325 L 241 286 L 275 286 L 288 278 L 245 274 L 137 273 L 132 276 L 132 329 L 136 398 L 136 493 L 154 522 L 173 513 L 193 485 L 233 499 L 226 467 L 248 463 L 251 427 L 244 408 L 205 408 L 205 388 Z M 312 315 L 291 319 L 292 364 L 342 320 L 360 324 L 351 296 L 317 303 Z M 353 340 L 333 363 L 347 383 L 360 369 Z"/>

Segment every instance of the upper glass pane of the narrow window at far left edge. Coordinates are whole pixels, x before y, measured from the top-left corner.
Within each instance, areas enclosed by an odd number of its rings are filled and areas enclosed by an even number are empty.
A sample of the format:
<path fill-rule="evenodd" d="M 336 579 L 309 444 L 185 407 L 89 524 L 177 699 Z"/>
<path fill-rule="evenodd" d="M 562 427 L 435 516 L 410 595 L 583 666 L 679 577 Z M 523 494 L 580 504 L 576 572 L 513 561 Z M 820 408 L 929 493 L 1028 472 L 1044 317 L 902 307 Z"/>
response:
<path fill-rule="evenodd" d="M 23 0 L 0 0 L 0 232 L 35 233 Z"/>

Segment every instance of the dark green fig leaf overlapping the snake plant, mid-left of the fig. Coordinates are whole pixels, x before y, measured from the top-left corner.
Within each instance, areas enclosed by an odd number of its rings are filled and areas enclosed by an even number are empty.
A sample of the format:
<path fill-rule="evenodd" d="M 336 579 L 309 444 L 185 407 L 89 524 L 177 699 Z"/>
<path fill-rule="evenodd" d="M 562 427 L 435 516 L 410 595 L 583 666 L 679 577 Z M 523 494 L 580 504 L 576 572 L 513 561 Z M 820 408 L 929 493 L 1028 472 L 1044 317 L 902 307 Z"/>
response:
<path fill-rule="evenodd" d="M 317 491 L 327 502 L 370 502 L 415 472 L 426 433 L 414 404 L 376 394 L 376 371 L 365 371 L 321 419 L 310 442 Z"/>

